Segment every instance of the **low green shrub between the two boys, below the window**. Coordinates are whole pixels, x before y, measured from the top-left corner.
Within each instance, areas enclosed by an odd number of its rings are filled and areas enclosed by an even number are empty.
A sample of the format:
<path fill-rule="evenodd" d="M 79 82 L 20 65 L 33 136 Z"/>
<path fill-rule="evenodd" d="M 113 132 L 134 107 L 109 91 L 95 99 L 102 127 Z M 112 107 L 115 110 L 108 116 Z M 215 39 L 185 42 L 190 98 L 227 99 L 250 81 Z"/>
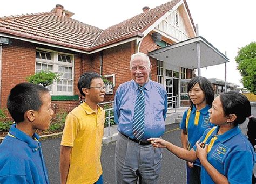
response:
<path fill-rule="evenodd" d="M 58 131 L 63 130 L 65 126 L 65 119 L 67 112 L 59 112 L 56 114 L 56 117 L 52 119 L 49 130 L 50 131 Z"/>

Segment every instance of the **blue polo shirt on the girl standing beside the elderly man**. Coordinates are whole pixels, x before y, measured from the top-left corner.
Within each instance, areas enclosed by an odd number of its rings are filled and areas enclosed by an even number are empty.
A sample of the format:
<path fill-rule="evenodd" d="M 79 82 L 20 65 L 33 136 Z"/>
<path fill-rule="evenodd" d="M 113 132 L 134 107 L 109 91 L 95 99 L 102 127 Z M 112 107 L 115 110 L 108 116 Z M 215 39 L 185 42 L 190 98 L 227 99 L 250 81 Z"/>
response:
<path fill-rule="evenodd" d="M 209 119 L 209 112 L 210 109 L 209 105 L 206 105 L 203 109 L 200 109 L 197 111 L 196 106 L 193 105 L 191 108 L 190 115 L 187 117 L 187 114 L 189 113 L 189 109 L 186 110 L 183 114 L 182 121 L 180 123 L 180 129 L 187 130 L 187 137 L 188 137 L 188 150 L 190 150 L 196 142 L 200 139 L 200 137 L 203 135 L 204 131 L 208 128 L 211 128 L 212 126 L 215 126 L 210 122 Z M 199 118 L 196 118 L 196 114 Z M 188 123 L 186 127 L 186 119 L 188 118 Z M 197 159 L 194 162 L 195 165 L 200 166 L 200 161 Z"/>

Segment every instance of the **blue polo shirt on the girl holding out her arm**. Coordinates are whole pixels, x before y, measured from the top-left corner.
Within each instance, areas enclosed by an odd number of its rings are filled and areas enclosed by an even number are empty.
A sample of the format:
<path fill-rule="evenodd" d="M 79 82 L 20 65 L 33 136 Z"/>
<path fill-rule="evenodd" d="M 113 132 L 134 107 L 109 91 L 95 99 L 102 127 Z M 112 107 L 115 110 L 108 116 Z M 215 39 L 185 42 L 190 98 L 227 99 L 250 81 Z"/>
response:
<path fill-rule="evenodd" d="M 242 135 L 238 126 L 228 130 L 223 135 L 217 135 L 219 126 L 212 132 L 209 132 L 210 130 L 206 130 L 200 138 L 200 141 L 208 144 L 208 162 L 226 176 L 229 183 L 251 184 L 255 161 L 251 143 Z M 196 151 L 196 146 L 193 149 Z M 201 183 L 214 183 L 203 166 L 201 166 Z"/>

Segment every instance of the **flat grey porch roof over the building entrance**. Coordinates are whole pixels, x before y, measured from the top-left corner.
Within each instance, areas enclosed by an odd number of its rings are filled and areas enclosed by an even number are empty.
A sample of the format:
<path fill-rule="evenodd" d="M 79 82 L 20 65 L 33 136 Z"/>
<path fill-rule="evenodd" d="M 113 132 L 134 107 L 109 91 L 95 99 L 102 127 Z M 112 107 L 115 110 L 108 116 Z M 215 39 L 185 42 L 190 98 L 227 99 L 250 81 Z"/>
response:
<path fill-rule="evenodd" d="M 201 36 L 156 49 L 149 52 L 149 56 L 175 66 L 196 69 L 198 68 L 197 43 L 200 45 L 201 68 L 229 62 L 223 53 Z"/>

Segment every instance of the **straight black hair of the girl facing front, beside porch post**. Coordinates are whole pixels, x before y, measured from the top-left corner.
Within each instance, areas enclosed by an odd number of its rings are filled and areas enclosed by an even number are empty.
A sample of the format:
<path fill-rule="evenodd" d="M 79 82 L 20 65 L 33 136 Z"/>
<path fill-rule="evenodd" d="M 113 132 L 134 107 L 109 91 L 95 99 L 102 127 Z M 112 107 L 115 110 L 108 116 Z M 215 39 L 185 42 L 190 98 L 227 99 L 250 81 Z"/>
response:
<path fill-rule="evenodd" d="M 206 104 L 209 105 L 210 107 L 212 107 L 212 102 L 214 100 L 214 90 L 213 90 L 211 82 L 208 79 L 206 79 L 205 77 L 196 76 L 193 79 L 191 79 L 190 82 L 188 82 L 188 84 L 187 84 L 187 93 L 197 83 L 199 84 L 200 88 L 203 90 L 203 92 L 205 94 Z M 190 99 L 190 106 L 191 107 L 193 106 L 193 102 L 191 101 L 191 99 Z"/>

